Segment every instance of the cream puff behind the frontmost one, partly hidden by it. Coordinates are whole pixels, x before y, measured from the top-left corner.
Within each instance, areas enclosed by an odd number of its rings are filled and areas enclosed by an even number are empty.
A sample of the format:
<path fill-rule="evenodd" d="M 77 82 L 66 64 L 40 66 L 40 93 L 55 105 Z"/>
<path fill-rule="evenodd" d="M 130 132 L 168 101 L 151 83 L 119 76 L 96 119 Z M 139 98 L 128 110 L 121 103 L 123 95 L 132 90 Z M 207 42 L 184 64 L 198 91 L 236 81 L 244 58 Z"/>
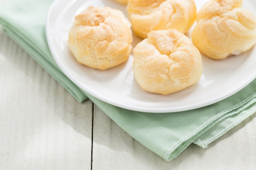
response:
<path fill-rule="evenodd" d="M 194 0 L 128 0 L 127 11 L 132 30 L 140 38 L 152 30 L 186 33 L 197 13 Z"/>

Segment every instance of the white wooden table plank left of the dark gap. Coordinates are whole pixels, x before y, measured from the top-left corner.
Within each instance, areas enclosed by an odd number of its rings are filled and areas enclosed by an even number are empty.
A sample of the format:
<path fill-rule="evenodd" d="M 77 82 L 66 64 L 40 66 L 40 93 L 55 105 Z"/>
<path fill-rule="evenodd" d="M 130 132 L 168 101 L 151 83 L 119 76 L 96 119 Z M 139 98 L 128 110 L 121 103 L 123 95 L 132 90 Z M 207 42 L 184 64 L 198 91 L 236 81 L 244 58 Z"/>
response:
<path fill-rule="evenodd" d="M 91 169 L 92 102 L 80 104 L 0 32 L 0 169 Z"/>

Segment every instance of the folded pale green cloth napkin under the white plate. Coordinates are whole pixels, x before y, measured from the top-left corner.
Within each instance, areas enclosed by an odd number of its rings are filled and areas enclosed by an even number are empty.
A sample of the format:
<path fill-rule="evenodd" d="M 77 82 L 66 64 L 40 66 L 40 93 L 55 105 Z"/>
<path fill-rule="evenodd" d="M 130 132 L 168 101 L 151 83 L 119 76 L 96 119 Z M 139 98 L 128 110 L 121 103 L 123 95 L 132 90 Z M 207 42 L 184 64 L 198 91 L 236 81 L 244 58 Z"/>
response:
<path fill-rule="evenodd" d="M 47 11 L 53 0 L 15 0 L 0 7 L 4 33 L 19 44 L 79 102 L 89 97 L 133 138 L 166 161 L 189 144 L 206 148 L 212 141 L 256 112 L 256 79 L 218 103 L 179 113 L 141 113 L 112 106 L 86 94 L 54 61 L 45 36 Z"/>

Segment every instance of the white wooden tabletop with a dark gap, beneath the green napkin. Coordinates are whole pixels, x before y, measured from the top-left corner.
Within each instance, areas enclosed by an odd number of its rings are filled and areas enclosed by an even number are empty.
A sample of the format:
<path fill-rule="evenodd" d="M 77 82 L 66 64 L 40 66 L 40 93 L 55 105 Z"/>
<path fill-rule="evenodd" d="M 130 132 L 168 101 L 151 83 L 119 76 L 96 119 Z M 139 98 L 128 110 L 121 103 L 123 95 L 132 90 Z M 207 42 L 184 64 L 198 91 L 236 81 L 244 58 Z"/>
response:
<path fill-rule="evenodd" d="M 255 170 L 255 116 L 164 161 L 90 100 L 76 102 L 0 29 L 0 170 Z"/>

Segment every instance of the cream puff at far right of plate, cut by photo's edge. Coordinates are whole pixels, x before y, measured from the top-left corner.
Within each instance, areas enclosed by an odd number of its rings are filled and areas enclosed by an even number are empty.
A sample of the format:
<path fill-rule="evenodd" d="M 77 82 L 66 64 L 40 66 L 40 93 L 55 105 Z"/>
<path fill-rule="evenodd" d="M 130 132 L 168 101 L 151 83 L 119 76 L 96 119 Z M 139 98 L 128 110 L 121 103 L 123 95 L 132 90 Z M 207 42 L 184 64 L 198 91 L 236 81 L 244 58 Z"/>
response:
<path fill-rule="evenodd" d="M 242 7 L 243 0 L 210 0 L 197 16 L 193 44 L 204 55 L 225 59 L 243 53 L 256 42 L 256 18 Z"/>

